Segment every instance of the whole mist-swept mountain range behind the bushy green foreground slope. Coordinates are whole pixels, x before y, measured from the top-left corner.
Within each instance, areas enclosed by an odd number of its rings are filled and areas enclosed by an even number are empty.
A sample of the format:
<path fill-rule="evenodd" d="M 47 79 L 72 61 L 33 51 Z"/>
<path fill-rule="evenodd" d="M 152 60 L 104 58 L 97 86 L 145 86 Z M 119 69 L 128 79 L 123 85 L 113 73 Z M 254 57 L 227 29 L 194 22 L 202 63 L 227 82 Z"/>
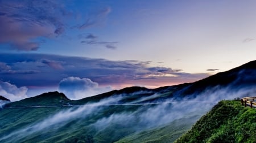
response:
<path fill-rule="evenodd" d="M 156 89 L 134 86 L 76 101 L 48 92 L 6 103 L 0 111 L 0 142 L 174 142 L 219 101 L 255 96 L 255 73 L 256 60 L 195 83 Z M 217 121 L 207 118 L 214 132 L 238 111 L 225 110 L 226 116 L 216 113 Z"/>

